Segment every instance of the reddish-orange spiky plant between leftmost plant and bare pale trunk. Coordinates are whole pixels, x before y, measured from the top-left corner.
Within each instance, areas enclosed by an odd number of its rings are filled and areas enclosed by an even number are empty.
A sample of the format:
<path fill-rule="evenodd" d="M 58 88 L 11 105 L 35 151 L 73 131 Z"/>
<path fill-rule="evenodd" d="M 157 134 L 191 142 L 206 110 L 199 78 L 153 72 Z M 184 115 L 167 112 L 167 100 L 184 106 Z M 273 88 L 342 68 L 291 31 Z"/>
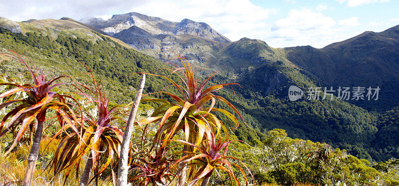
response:
<path fill-rule="evenodd" d="M 79 186 L 87 186 L 91 181 L 98 178 L 107 167 L 111 169 L 112 180 L 115 184 L 116 165 L 123 138 L 123 132 L 115 121 L 121 120 L 126 123 L 126 120 L 121 117 L 124 112 L 119 106 L 109 107 L 107 95 L 101 90 L 90 69 L 89 71 L 93 86 L 75 83 L 75 87 L 79 90 L 78 94 L 83 95 L 88 100 L 83 104 L 83 107 L 86 104 L 94 104 L 97 113 L 91 115 L 83 110 L 84 114 L 81 118 L 83 125 L 79 127 L 79 133 L 62 138 L 55 152 L 52 168 L 54 175 L 66 170 L 66 181 L 73 168 L 79 169 L 81 160 L 84 160 L 83 156 L 89 154 Z M 92 170 L 94 174 L 89 179 Z M 78 171 L 76 171 L 76 174 L 78 174 Z"/>

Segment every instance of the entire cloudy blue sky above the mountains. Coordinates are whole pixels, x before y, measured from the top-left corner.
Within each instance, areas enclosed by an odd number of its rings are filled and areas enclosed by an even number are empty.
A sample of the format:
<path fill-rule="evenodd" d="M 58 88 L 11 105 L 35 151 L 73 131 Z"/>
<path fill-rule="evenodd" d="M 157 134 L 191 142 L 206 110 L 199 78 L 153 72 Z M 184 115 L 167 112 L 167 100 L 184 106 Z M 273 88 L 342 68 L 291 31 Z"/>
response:
<path fill-rule="evenodd" d="M 0 16 L 22 21 L 110 18 L 136 11 L 171 21 L 206 22 L 232 41 L 260 39 L 271 47 L 322 48 L 364 31 L 399 24 L 399 0 L 18 0 L 0 2 Z"/>

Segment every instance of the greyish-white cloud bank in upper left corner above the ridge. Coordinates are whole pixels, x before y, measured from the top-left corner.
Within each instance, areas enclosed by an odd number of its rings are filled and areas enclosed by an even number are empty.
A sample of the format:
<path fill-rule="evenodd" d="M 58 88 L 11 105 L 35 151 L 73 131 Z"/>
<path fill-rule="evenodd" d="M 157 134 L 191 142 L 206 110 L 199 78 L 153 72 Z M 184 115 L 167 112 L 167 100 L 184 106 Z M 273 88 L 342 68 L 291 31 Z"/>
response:
<path fill-rule="evenodd" d="M 80 19 L 112 12 L 128 12 L 145 3 L 138 0 L 4 0 L 1 15 L 14 21 L 71 17 Z"/>

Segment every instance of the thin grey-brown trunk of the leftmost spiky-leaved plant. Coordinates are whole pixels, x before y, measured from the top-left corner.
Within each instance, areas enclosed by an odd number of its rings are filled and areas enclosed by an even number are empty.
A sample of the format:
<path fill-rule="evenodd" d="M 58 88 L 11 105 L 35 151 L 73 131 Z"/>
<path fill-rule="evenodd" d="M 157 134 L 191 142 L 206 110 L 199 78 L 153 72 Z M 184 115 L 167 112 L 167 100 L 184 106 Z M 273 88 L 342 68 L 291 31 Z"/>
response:
<path fill-rule="evenodd" d="M 44 112 L 45 115 L 45 112 Z M 34 134 L 33 143 L 30 147 L 28 156 L 28 165 L 26 166 L 25 177 L 23 177 L 22 186 L 31 186 L 34 169 L 36 166 L 37 156 L 39 155 L 40 141 L 43 134 L 43 121 L 37 122 L 37 129 Z"/>

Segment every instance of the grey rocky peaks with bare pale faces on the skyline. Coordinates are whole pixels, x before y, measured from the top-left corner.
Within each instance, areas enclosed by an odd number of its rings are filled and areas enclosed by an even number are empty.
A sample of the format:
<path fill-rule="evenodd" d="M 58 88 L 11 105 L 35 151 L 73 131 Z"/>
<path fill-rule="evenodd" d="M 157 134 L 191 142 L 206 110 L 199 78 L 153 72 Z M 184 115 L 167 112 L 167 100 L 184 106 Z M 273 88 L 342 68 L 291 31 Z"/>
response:
<path fill-rule="evenodd" d="M 214 64 L 219 61 L 216 55 L 230 43 L 229 39 L 208 24 L 190 19 L 173 22 L 131 12 L 113 15 L 108 20 L 88 18 L 81 21 L 161 61 L 176 58 L 176 54 L 168 51 L 172 50 L 185 56 L 196 67 L 200 67 L 198 73 L 205 73 L 210 69 L 211 73 L 220 70 Z M 209 69 L 211 65 L 214 68 Z"/>

